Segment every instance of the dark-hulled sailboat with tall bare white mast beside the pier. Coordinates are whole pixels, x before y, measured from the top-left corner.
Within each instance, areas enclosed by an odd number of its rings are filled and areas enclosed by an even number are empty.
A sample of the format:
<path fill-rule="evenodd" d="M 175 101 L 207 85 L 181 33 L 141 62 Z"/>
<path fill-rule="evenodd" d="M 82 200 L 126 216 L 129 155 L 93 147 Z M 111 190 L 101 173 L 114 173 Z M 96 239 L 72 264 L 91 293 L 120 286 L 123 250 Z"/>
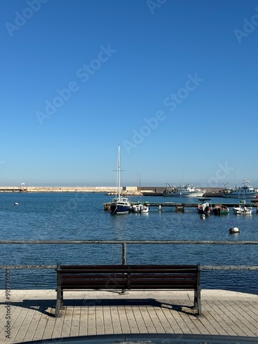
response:
<path fill-rule="evenodd" d="M 131 211 L 129 198 L 120 196 L 120 145 L 118 145 L 117 194 L 110 204 L 111 214 L 128 214 Z"/>

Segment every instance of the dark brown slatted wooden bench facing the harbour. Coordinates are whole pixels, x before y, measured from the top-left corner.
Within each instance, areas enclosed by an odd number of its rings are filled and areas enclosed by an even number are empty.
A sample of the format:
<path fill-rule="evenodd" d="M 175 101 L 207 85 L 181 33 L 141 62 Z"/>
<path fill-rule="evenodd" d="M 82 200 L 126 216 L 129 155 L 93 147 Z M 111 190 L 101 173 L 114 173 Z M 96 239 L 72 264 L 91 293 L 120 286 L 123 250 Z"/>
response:
<path fill-rule="evenodd" d="M 64 290 L 194 290 L 193 308 L 202 314 L 199 265 L 58 265 L 55 316 Z"/>

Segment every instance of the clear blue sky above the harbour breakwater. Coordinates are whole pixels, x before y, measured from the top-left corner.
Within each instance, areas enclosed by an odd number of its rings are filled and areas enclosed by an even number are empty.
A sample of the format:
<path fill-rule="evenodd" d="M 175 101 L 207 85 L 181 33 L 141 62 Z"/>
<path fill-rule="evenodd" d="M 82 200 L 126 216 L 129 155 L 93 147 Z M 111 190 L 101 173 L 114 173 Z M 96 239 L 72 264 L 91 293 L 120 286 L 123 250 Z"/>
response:
<path fill-rule="evenodd" d="M 0 185 L 258 186 L 258 3 L 1 0 Z"/>

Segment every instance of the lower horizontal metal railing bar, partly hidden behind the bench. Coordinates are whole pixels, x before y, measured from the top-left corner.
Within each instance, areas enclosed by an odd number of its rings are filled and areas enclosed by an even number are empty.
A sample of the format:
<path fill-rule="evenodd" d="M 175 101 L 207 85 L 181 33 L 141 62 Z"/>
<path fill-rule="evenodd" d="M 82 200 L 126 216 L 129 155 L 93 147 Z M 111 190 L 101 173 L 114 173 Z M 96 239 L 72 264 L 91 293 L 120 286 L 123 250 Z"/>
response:
<path fill-rule="evenodd" d="M 132 264 L 133 265 L 133 264 Z M 56 265 L 0 265 L 0 270 L 56 269 Z M 245 265 L 200 265 L 201 270 L 258 270 L 258 266 Z"/>

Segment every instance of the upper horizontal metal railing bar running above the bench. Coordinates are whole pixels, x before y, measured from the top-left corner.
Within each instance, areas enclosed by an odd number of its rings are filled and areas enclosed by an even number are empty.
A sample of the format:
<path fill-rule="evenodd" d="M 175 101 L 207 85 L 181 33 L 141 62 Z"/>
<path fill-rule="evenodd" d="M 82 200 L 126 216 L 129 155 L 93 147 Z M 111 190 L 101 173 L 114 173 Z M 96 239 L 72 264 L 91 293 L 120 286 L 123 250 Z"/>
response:
<path fill-rule="evenodd" d="M 0 244 L 173 244 L 173 245 L 258 245 L 258 241 L 223 240 L 1 240 Z"/>

